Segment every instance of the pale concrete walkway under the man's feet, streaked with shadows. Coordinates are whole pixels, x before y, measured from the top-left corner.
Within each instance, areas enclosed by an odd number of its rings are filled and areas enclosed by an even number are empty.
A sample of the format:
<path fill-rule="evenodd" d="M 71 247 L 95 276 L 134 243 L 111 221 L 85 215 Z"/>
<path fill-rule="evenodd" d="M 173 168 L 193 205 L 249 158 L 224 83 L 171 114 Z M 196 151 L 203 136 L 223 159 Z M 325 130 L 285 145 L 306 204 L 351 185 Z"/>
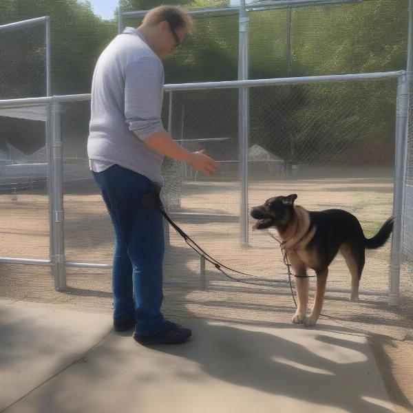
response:
<path fill-rule="evenodd" d="M 185 325 L 147 348 L 109 314 L 0 301 L 0 412 L 394 412 L 366 338 L 332 321 Z"/>

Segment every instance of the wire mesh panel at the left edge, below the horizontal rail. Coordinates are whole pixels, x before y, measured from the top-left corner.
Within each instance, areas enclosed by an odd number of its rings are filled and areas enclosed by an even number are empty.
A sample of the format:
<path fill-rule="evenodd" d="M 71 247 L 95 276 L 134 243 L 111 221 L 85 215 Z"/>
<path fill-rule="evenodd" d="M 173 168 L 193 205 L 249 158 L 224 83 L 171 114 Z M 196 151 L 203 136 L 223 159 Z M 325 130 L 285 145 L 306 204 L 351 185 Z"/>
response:
<path fill-rule="evenodd" d="M 47 260 L 46 126 L 29 116 L 44 117 L 45 107 L 0 108 L 1 256 Z"/>

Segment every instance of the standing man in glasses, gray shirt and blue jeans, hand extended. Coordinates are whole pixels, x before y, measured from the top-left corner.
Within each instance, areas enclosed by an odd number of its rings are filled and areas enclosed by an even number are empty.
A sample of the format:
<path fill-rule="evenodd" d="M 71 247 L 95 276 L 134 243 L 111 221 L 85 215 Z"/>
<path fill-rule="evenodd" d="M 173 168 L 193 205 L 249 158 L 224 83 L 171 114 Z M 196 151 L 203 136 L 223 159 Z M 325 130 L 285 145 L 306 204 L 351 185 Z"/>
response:
<path fill-rule="evenodd" d="M 114 330 L 135 326 L 139 343 L 183 343 L 191 330 L 165 320 L 162 306 L 163 222 L 145 195 L 162 186 L 164 156 L 204 175 L 218 167 L 202 151 L 173 142 L 162 126 L 164 70 L 160 58 L 182 44 L 193 22 L 182 9 L 150 10 L 100 55 L 92 81 L 87 151 L 115 231 Z"/>

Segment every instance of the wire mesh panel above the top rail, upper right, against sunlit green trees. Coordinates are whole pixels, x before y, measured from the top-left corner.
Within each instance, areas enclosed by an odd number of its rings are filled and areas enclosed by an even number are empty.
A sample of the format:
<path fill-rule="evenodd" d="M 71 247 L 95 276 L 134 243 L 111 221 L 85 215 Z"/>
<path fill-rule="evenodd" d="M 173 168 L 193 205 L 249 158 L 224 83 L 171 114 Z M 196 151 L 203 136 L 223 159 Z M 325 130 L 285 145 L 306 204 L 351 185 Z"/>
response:
<path fill-rule="evenodd" d="M 249 12 L 250 78 L 399 70 L 408 6 L 364 0 Z"/>

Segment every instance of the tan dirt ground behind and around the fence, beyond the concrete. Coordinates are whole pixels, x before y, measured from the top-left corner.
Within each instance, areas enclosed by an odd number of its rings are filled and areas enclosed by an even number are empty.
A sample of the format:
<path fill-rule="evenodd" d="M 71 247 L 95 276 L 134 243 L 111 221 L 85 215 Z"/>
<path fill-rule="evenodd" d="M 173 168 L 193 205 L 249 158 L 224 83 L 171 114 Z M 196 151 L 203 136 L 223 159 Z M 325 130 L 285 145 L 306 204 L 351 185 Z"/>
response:
<path fill-rule="evenodd" d="M 392 191 L 392 180 L 386 178 L 251 182 L 248 204 L 260 204 L 273 195 L 297 193 L 297 203 L 307 209 L 343 208 L 354 213 L 366 235 L 372 236 L 391 215 Z M 187 212 L 237 215 L 239 199 L 236 182 L 187 182 L 182 187 L 181 208 Z M 206 217 L 181 220 L 178 224 L 216 260 L 257 275 L 255 282 L 280 282 L 260 286 L 236 283 L 208 263 L 202 279 L 198 255 L 171 229 L 165 256 L 164 311 L 168 317 L 266 325 L 290 323 L 295 308 L 286 283 L 286 268 L 268 233 L 250 231 L 249 246 L 242 248 L 237 222 Z M 17 200 L 7 193 L 0 195 L 0 256 L 47 259 L 48 248 L 45 192 L 21 192 Z M 68 184 L 66 260 L 109 264 L 112 248 L 112 228 L 93 182 Z M 413 277 L 403 268 L 401 305 L 388 306 L 389 251 L 390 243 L 368 251 L 359 303 L 350 303 L 350 293 L 330 290 L 323 313 L 349 332 L 366 333 L 396 412 L 405 413 L 413 412 Z M 67 267 L 67 291 L 57 292 L 47 267 L 0 264 L 0 297 L 111 313 L 110 279 L 111 271 L 107 269 Z M 341 257 L 330 266 L 328 288 L 350 288 L 350 275 Z"/>

